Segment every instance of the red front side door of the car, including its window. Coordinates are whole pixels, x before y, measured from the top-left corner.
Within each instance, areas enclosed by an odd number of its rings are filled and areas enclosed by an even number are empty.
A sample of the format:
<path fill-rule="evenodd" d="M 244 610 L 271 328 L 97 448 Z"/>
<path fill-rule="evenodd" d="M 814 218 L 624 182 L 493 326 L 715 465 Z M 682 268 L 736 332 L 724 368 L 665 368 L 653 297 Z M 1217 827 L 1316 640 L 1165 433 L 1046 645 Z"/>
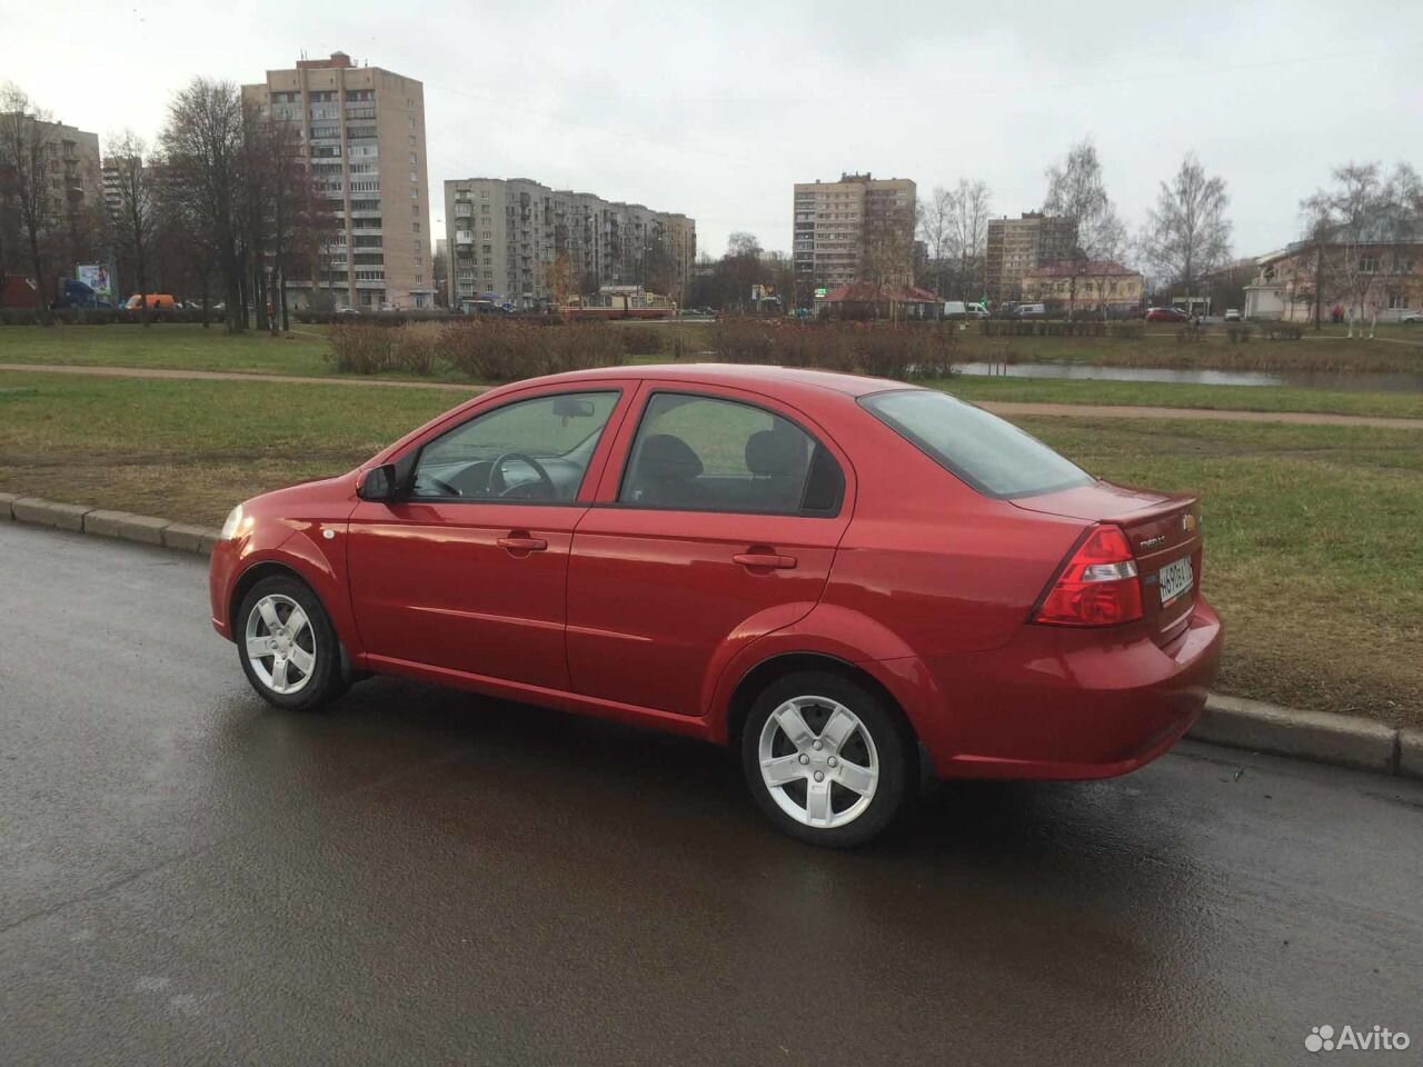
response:
<path fill-rule="evenodd" d="M 568 689 L 568 552 L 620 397 L 515 394 L 416 445 L 403 498 L 363 501 L 350 521 L 351 605 L 369 654 Z"/>

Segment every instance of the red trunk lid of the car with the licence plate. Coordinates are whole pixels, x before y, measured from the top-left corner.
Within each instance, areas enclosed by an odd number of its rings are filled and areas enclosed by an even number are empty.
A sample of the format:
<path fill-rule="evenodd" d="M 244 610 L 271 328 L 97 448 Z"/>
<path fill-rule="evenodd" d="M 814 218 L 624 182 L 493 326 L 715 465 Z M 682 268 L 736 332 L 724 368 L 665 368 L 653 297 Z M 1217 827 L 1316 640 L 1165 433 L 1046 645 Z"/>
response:
<path fill-rule="evenodd" d="M 1195 497 L 1097 481 L 1022 497 L 1013 504 L 1025 511 L 1121 526 L 1137 559 L 1141 615 L 1153 637 L 1168 644 L 1185 632 L 1201 588 L 1201 506 Z"/>

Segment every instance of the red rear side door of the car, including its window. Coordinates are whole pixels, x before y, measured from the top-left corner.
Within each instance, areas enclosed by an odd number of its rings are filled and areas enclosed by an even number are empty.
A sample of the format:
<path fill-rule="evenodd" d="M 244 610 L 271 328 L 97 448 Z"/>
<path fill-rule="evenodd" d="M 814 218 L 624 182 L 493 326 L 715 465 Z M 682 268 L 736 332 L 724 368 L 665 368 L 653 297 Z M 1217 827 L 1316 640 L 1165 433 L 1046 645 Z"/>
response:
<path fill-rule="evenodd" d="M 838 447 L 768 397 L 647 383 L 568 570 L 576 693 L 702 714 L 717 653 L 804 617 L 854 481 Z"/>

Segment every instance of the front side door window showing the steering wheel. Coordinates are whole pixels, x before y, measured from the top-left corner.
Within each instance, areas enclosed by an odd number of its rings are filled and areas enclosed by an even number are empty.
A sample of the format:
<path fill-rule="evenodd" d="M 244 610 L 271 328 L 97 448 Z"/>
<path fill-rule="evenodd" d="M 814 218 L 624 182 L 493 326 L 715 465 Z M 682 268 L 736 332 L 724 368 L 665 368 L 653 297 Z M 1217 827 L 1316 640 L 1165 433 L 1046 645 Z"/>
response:
<path fill-rule="evenodd" d="M 573 501 L 618 396 L 558 393 L 475 415 L 420 451 L 410 497 Z"/>

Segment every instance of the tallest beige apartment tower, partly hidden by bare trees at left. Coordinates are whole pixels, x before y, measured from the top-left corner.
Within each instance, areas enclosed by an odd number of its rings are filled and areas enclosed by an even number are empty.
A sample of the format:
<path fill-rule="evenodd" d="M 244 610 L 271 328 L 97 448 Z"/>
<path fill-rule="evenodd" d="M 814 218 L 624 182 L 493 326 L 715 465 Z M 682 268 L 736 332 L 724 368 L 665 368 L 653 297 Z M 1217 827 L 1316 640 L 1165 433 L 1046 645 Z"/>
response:
<path fill-rule="evenodd" d="M 300 125 L 306 159 L 337 218 L 314 276 L 289 282 L 296 304 L 434 306 L 424 85 L 337 51 L 269 70 L 242 94 Z"/>

